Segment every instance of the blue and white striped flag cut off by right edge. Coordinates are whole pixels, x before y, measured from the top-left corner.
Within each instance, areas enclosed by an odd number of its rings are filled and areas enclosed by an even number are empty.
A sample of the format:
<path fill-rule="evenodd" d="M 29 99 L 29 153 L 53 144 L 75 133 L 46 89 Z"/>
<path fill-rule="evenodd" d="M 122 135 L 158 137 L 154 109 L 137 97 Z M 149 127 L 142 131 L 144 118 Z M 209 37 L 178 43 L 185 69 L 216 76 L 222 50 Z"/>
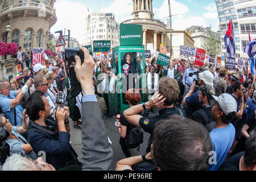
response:
<path fill-rule="evenodd" d="M 256 66 L 255 59 L 254 59 L 254 56 L 256 54 L 256 40 L 255 39 L 251 40 L 251 42 L 246 44 L 243 53 L 247 53 L 247 55 L 250 57 L 250 59 L 249 59 L 250 67 L 251 67 L 250 71 L 251 71 L 251 73 L 253 73 L 255 75 L 255 66 Z"/>

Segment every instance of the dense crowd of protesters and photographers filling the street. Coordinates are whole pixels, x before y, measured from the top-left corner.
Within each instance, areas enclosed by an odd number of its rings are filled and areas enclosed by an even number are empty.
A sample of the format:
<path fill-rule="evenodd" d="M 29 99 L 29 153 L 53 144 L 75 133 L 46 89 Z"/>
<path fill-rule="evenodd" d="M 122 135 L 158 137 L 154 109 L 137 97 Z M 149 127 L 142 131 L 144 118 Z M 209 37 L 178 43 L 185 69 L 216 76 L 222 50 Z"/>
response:
<path fill-rule="evenodd" d="M 115 170 L 256 170 L 253 74 L 245 69 L 228 72 L 212 63 L 199 67 L 186 59 L 163 67 L 152 57 L 143 64 L 132 53 L 122 63 L 96 60 L 80 49 L 83 63 L 76 56 L 69 67 L 55 60 L 49 68 L 28 64 L 0 81 L 0 125 L 9 133 L 10 146 L 2 170 L 108 170 L 113 150 L 104 118 L 118 114 L 119 144 L 126 158 Z M 144 73 L 145 79 L 125 77 L 131 73 Z M 121 78 L 130 81 L 127 92 L 120 94 L 115 89 Z M 128 108 L 123 113 L 121 98 Z M 71 120 L 82 130 L 81 161 L 69 143 Z M 142 156 L 131 156 L 130 148 L 141 143 L 131 146 L 127 138 L 137 127 L 150 138 L 143 141 L 148 143 Z M 38 158 L 42 151 L 46 161 Z"/>

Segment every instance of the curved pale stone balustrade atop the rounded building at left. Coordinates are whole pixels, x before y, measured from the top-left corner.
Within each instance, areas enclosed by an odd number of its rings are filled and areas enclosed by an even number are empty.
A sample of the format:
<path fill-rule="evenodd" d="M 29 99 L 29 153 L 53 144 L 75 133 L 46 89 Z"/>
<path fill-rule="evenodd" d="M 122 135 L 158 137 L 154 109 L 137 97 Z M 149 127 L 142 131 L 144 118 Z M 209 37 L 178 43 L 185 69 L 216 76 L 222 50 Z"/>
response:
<path fill-rule="evenodd" d="M 36 7 L 36 9 L 46 9 L 46 10 L 50 11 L 51 13 L 55 14 L 55 16 L 56 16 L 55 9 L 52 9 L 52 7 L 49 7 L 43 3 L 35 3 L 35 2 L 16 3 L 14 5 L 5 7 L 4 9 L 2 9 L 0 11 L 0 15 L 2 13 L 5 13 L 6 11 L 20 9 L 20 7 L 24 8 L 24 9 L 27 9 L 29 7 Z"/>

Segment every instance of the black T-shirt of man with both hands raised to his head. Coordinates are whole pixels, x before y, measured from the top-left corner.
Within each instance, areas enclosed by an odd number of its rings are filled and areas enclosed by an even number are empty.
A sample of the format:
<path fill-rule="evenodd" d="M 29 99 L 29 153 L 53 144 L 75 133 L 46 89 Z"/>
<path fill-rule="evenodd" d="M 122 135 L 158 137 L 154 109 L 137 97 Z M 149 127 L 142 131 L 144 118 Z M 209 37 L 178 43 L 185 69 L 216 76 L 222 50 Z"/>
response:
<path fill-rule="evenodd" d="M 144 131 L 152 134 L 155 128 L 155 123 L 162 119 L 167 119 L 172 114 L 180 115 L 180 112 L 175 107 L 164 108 L 159 110 L 159 115 L 155 117 L 142 117 L 141 119 L 139 119 L 139 125 L 142 127 Z"/>

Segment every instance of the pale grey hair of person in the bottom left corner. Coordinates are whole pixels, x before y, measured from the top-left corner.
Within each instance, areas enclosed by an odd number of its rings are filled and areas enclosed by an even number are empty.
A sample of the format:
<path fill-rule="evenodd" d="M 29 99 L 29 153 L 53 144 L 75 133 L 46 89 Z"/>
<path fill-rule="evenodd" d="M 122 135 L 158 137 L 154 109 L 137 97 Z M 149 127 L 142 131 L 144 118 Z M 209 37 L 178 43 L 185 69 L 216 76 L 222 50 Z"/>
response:
<path fill-rule="evenodd" d="M 14 154 L 6 159 L 2 167 L 3 171 L 32 171 L 33 167 L 28 159 L 22 155 Z"/>

